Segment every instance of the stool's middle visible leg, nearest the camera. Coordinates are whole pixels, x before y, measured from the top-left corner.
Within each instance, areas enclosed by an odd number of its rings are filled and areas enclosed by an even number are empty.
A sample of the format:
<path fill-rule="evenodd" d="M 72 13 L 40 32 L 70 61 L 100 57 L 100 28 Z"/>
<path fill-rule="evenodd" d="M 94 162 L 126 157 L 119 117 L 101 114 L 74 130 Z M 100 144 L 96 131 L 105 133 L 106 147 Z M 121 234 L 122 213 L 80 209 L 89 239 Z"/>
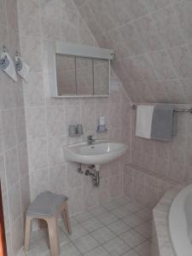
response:
<path fill-rule="evenodd" d="M 60 244 L 59 244 L 59 231 L 57 218 L 46 219 L 49 230 L 49 247 L 51 256 L 59 256 Z"/>

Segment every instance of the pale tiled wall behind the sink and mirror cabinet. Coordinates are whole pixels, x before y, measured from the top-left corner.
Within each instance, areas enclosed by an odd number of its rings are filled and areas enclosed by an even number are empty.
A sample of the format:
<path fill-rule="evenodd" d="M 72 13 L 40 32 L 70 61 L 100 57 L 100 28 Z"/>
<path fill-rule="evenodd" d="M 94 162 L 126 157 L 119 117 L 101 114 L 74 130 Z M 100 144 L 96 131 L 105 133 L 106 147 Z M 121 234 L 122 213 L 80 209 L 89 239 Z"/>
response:
<path fill-rule="evenodd" d="M 112 95 L 108 98 L 49 98 L 49 42 L 96 45 L 95 39 L 71 0 L 19 0 L 18 12 L 21 55 L 32 67 L 24 86 L 32 200 L 46 189 L 65 193 L 69 196 L 70 213 L 75 213 L 121 195 L 121 166 L 130 160 L 130 151 L 124 159 L 102 166 L 101 185 L 96 189 L 90 177 L 77 172 L 78 165 L 67 163 L 62 146 L 84 140 L 90 134 L 130 144 L 131 111 L 125 90 L 112 73 Z M 108 132 L 98 136 L 96 125 L 101 115 L 108 121 Z M 78 123 L 84 126 L 84 137 L 69 138 L 68 125 Z"/>

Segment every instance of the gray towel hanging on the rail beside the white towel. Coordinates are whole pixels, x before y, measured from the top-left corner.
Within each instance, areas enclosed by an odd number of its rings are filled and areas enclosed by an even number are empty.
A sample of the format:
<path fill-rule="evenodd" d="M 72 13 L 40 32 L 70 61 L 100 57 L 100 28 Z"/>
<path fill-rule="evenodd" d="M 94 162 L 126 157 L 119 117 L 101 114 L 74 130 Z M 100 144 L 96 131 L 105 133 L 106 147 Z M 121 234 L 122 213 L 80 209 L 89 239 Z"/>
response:
<path fill-rule="evenodd" d="M 177 136 L 177 113 L 169 105 L 156 105 L 154 107 L 151 138 L 169 142 Z"/>

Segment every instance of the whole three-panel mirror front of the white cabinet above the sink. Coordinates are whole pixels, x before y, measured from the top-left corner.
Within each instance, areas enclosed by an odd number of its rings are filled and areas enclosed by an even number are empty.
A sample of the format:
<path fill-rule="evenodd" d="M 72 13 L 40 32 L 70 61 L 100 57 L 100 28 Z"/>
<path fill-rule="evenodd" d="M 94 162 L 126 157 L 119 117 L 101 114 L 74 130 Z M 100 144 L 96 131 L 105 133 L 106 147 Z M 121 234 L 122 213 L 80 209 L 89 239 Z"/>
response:
<path fill-rule="evenodd" d="M 55 54 L 58 96 L 108 96 L 110 61 Z"/>

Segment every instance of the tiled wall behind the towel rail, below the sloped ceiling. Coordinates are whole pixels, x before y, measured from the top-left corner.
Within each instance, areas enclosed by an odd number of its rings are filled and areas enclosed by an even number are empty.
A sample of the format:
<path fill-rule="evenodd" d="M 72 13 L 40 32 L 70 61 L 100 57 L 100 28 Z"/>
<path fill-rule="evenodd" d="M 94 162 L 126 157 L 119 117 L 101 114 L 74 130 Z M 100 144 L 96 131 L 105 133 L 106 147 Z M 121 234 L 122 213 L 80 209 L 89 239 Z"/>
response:
<path fill-rule="evenodd" d="M 191 105 L 177 105 L 177 108 L 191 108 Z M 188 113 L 177 116 L 177 137 L 171 143 L 164 143 L 135 137 L 136 111 L 132 110 L 132 162 L 178 183 L 189 183 L 192 178 L 192 118 Z"/>

